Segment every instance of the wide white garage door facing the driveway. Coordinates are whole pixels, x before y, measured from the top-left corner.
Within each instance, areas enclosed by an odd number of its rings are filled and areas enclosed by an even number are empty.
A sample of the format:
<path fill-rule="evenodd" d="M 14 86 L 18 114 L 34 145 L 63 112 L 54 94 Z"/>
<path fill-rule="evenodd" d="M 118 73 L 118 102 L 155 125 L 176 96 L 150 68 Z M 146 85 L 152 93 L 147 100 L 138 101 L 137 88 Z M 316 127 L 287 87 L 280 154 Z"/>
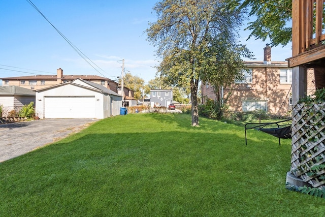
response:
<path fill-rule="evenodd" d="M 94 118 L 95 97 L 45 97 L 45 118 Z"/>

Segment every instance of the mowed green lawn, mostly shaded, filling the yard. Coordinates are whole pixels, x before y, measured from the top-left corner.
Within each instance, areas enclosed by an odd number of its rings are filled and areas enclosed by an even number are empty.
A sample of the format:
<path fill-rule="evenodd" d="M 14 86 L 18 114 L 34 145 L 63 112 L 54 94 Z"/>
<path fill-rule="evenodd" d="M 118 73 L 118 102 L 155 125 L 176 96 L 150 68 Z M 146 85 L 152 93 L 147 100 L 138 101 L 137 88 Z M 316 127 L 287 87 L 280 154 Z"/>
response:
<path fill-rule="evenodd" d="M 128 114 L 0 163 L 0 216 L 324 216 L 285 189 L 290 140 L 187 114 Z"/>

